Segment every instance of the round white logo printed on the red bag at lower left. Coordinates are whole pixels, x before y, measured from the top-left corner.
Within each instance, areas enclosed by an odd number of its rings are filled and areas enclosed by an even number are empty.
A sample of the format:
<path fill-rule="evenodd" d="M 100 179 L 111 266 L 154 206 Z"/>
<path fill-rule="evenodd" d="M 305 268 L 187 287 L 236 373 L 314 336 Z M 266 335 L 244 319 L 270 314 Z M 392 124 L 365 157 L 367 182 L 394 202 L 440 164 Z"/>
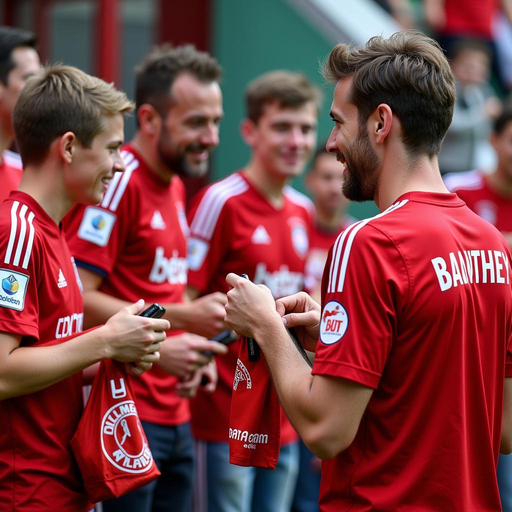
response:
<path fill-rule="evenodd" d="M 145 473 L 151 468 L 153 455 L 133 400 L 116 403 L 105 413 L 101 448 L 105 457 L 126 473 Z"/>

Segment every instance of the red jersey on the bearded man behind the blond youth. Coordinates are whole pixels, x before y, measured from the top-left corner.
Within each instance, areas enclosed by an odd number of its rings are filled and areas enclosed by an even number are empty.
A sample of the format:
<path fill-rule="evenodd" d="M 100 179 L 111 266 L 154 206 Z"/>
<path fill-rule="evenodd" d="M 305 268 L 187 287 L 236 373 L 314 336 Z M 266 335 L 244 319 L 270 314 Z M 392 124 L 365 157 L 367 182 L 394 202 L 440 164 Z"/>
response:
<path fill-rule="evenodd" d="M 126 170 L 114 175 L 101 203 L 77 205 L 65 218 L 71 252 L 78 266 L 103 276 L 103 293 L 129 302 L 182 302 L 188 236 L 183 183 L 178 176 L 161 180 L 130 144 L 121 155 Z M 132 378 L 142 420 L 177 425 L 190 419 L 188 400 L 175 393 L 177 381 L 158 365 Z"/>

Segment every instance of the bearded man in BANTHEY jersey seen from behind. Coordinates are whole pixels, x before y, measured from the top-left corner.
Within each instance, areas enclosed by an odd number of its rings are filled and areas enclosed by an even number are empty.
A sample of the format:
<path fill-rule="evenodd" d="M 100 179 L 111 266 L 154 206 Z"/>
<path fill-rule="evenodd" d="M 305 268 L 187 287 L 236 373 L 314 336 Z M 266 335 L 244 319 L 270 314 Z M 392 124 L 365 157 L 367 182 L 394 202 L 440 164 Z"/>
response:
<path fill-rule="evenodd" d="M 230 273 L 226 322 L 260 344 L 286 413 L 325 459 L 321 510 L 500 510 L 512 255 L 439 173 L 449 63 L 434 40 L 403 31 L 337 45 L 324 74 L 336 84 L 327 148 L 346 166 L 343 192 L 381 212 L 337 238 L 322 308 L 306 293 L 274 301 Z M 312 371 L 285 326 L 316 350 Z"/>

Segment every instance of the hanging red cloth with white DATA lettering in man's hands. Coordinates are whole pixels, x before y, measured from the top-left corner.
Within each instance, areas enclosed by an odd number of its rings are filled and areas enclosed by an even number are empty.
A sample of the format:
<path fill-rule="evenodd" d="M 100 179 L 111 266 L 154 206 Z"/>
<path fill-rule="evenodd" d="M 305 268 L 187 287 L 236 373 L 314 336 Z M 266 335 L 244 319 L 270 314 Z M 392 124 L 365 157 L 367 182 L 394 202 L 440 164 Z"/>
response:
<path fill-rule="evenodd" d="M 281 445 L 281 404 L 265 364 L 247 357 L 241 337 L 229 417 L 229 462 L 275 469 Z"/>

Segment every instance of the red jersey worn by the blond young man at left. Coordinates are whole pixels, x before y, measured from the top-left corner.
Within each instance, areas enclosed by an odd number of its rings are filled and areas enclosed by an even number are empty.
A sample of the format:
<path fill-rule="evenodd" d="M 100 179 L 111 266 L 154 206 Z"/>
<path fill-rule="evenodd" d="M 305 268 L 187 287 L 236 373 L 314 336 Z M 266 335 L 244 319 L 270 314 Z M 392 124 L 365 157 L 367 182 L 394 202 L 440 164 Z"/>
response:
<path fill-rule="evenodd" d="M 0 246 L 0 331 L 21 335 L 22 347 L 81 332 L 82 296 L 66 240 L 23 192 L 0 205 Z M 69 444 L 82 411 L 81 372 L 0 401 L 1 510 L 90 510 Z"/>

